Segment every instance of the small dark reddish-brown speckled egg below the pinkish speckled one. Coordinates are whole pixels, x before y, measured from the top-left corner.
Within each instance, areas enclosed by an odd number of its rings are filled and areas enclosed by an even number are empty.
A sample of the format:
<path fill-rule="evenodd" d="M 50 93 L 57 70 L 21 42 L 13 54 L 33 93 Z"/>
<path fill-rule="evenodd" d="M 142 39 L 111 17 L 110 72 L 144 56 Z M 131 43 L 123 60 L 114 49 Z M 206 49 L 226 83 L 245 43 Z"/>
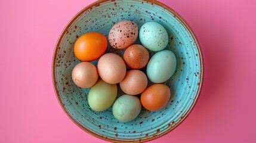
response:
<path fill-rule="evenodd" d="M 149 62 L 149 52 L 143 45 L 131 45 L 125 50 L 124 61 L 131 69 L 142 69 Z"/>

